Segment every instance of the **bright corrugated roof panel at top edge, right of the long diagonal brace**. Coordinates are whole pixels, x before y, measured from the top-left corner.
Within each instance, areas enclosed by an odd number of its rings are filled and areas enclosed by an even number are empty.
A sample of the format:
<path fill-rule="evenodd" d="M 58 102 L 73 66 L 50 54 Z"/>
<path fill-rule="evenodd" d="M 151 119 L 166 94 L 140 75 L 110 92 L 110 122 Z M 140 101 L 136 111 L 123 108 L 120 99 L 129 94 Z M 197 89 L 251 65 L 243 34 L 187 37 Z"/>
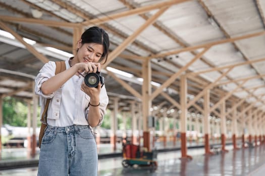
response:
<path fill-rule="evenodd" d="M 172 6 L 159 20 L 190 45 L 224 37 L 219 29 L 209 23 L 205 11 L 194 1 Z"/>

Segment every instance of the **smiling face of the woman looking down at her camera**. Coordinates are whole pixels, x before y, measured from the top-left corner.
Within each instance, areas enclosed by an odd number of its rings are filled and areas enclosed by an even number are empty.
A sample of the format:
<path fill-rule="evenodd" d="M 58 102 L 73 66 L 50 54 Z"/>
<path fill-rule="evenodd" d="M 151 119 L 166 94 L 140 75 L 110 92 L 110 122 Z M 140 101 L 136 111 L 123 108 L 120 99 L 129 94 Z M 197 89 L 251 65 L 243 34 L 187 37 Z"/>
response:
<path fill-rule="evenodd" d="M 78 43 L 79 62 L 98 62 L 103 54 L 103 45 L 97 43 Z"/>

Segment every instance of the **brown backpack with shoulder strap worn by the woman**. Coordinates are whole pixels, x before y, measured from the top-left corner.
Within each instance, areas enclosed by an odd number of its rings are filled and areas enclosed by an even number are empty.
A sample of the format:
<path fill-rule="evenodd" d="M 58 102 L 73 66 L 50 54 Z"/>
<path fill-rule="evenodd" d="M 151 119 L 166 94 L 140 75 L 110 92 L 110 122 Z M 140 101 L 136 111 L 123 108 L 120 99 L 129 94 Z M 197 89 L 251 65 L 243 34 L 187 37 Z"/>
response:
<path fill-rule="evenodd" d="M 55 63 L 56 63 L 55 74 L 61 73 L 64 70 L 66 70 L 65 61 L 56 61 Z M 41 126 L 40 126 L 40 131 L 39 131 L 39 148 L 41 145 L 41 140 L 42 140 L 42 137 L 44 135 L 45 129 L 47 127 L 47 110 L 48 110 L 50 100 L 51 99 L 46 100 L 44 110 L 43 110 L 43 113 L 41 115 Z"/>

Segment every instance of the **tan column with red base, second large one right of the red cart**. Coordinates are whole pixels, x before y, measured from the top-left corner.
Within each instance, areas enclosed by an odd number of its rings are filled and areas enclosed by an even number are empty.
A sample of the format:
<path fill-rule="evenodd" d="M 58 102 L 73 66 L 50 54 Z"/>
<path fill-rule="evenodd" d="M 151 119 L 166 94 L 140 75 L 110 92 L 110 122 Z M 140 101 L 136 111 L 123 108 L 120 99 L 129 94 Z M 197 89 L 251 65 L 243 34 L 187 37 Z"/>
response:
<path fill-rule="evenodd" d="M 210 107 L 210 90 L 206 90 L 204 93 L 203 101 L 203 131 L 204 131 L 204 145 L 205 145 L 205 154 L 213 154 L 210 152 L 209 144 L 209 132 L 210 132 L 210 121 L 209 121 L 209 107 Z"/>

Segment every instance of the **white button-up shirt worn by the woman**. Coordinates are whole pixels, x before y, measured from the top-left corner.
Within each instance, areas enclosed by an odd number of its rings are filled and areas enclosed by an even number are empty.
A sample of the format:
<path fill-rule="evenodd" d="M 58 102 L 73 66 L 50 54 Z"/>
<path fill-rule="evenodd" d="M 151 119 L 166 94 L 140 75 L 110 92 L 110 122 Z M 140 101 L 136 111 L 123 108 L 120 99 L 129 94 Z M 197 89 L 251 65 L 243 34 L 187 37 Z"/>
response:
<path fill-rule="evenodd" d="M 66 69 L 70 68 L 68 61 L 65 63 Z M 74 124 L 89 125 L 86 119 L 89 111 L 88 103 L 90 97 L 80 90 L 81 83 L 84 80 L 82 76 L 73 75 L 59 90 L 50 95 L 44 95 L 41 92 L 40 87 L 42 83 L 54 76 L 55 70 L 55 62 L 49 61 L 44 64 L 35 78 L 35 94 L 40 96 L 40 113 L 42 114 L 44 110 L 46 100 L 51 99 L 47 111 L 47 123 L 49 125 L 58 127 Z M 100 91 L 99 100 L 100 121 L 98 125 L 101 125 L 105 109 L 109 103 L 105 86 L 103 86 Z"/>

